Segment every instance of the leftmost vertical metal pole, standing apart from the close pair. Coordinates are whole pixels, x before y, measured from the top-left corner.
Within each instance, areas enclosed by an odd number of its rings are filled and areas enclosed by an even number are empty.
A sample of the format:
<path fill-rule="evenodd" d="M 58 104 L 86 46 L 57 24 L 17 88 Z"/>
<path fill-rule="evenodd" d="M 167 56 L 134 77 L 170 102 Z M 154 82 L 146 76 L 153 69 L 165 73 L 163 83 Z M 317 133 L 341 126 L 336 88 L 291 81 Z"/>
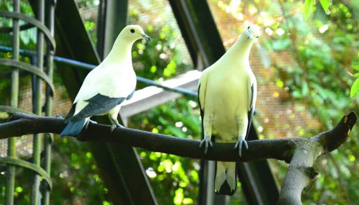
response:
<path fill-rule="evenodd" d="M 20 12 L 19 0 L 13 1 L 14 12 Z M 12 59 L 18 60 L 19 50 L 19 25 L 18 19 L 12 19 L 13 33 L 12 33 Z M 18 106 L 18 69 L 12 68 L 11 70 L 11 99 L 10 106 Z M 11 137 L 8 139 L 8 156 L 16 157 L 16 138 Z M 15 187 L 15 167 L 8 165 L 7 167 L 7 185 L 6 185 L 6 201 L 7 205 L 14 203 L 14 187 Z"/>

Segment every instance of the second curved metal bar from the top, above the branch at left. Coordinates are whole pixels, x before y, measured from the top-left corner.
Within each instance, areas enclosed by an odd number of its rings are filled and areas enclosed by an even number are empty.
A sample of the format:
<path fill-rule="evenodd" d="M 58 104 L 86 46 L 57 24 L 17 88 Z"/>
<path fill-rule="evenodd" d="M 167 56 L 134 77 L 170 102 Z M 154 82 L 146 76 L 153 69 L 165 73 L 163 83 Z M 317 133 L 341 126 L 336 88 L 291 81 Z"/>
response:
<path fill-rule="evenodd" d="M 35 66 L 32 66 L 30 64 L 23 63 L 21 61 L 13 60 L 13 59 L 6 59 L 6 58 L 0 58 L 0 65 L 4 66 L 10 66 L 10 67 L 17 67 L 19 69 L 26 70 L 28 72 L 31 72 L 46 81 L 46 83 L 51 88 L 51 95 L 53 96 L 53 93 L 55 91 L 54 85 L 52 84 L 52 80 L 46 75 L 46 73 L 40 69 L 37 69 Z"/>

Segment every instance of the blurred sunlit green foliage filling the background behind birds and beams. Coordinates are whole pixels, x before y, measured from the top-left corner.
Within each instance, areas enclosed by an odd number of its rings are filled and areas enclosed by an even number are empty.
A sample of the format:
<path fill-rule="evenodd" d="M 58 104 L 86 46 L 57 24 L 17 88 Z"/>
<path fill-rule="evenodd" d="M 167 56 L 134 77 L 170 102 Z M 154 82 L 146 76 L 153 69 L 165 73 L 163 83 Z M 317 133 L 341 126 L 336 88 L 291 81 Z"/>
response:
<path fill-rule="evenodd" d="M 84 10 L 98 5 L 95 0 L 77 2 L 80 9 Z M 133 47 L 137 75 L 161 81 L 192 69 L 188 54 L 181 47 L 183 42 L 179 41 L 182 40 L 179 30 L 175 23 L 168 21 L 171 11 L 167 1 L 130 2 L 129 23 L 146 22 L 143 27 L 153 39 L 150 43 L 136 42 Z M 266 80 L 271 80 L 277 87 L 288 91 L 287 100 L 304 105 L 313 118 L 320 122 L 320 127 L 316 129 L 304 129 L 303 135 L 327 130 L 344 113 L 349 110 L 357 111 L 358 98 L 355 95 L 359 92 L 359 74 L 354 73 L 359 70 L 357 1 L 333 1 L 330 4 L 330 1 L 321 0 L 317 1 L 320 2 L 319 5 L 314 0 L 306 0 L 304 3 L 288 0 L 280 1 L 282 5 L 278 6 L 270 1 L 253 0 L 248 4 L 244 1 L 236 4 L 235 9 L 230 12 L 227 12 L 228 8 L 234 7 L 236 1 L 208 2 L 216 8 L 224 8 L 224 12 L 230 13 L 237 20 L 252 19 L 253 23 L 264 28 L 265 35 L 261 43 L 263 50 L 269 55 L 263 55 L 263 62 L 268 64 L 268 72 L 274 73 L 274 76 Z M 11 10 L 11 4 L 10 0 L 0 1 L 0 9 Z M 153 11 L 158 5 L 165 9 Z M 281 18 L 282 12 L 278 12 L 280 6 L 283 6 L 286 18 Z M 22 1 L 21 8 L 23 13 L 33 15 L 25 1 Z M 303 10 L 297 12 L 297 8 Z M 95 18 L 85 16 L 84 22 L 96 42 Z M 2 26 L 11 26 L 11 21 L 3 18 L 0 23 Z M 233 26 L 233 33 L 238 33 L 236 26 Z M 31 29 L 22 32 L 21 47 L 34 49 L 35 38 L 35 32 Z M 11 46 L 10 43 L 11 36 L 0 34 L 0 45 Z M 277 61 L 275 53 L 281 52 L 289 52 L 293 63 Z M 0 55 L 11 57 L 9 53 Z M 9 80 L 0 80 L 0 104 L 6 103 L 4 100 L 7 97 L 3 93 L 9 91 L 8 85 Z M 138 86 L 142 87 L 144 85 Z M 133 116 L 129 127 L 193 139 L 199 139 L 201 132 L 198 106 L 195 101 L 185 98 L 169 101 Z M 352 204 L 359 202 L 357 129 L 358 127 L 353 129 L 352 137 L 340 149 L 318 160 L 317 168 L 321 177 L 304 194 L 305 204 L 347 204 L 348 200 Z M 196 203 L 199 170 L 197 160 L 141 149 L 138 149 L 138 153 L 160 204 Z M 52 204 L 111 204 L 106 185 L 99 176 L 86 144 L 55 137 L 52 161 Z M 288 165 L 276 160 L 270 162 L 281 182 Z M 0 173 L 1 203 L 4 201 L 5 190 L 4 167 L 0 168 Z M 31 175 L 22 169 L 18 169 L 16 174 L 15 203 L 28 204 L 31 189 L 28 181 L 31 181 Z M 238 187 L 240 186 L 238 183 Z M 230 199 L 231 204 L 243 202 L 243 196 L 238 194 Z"/>

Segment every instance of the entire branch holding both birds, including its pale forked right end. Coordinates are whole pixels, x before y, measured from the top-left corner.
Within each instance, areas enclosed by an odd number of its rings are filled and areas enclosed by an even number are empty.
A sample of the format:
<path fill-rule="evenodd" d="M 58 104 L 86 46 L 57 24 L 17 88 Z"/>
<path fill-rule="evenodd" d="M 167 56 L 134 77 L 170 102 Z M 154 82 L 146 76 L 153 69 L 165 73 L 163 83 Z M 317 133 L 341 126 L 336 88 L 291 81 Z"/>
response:
<path fill-rule="evenodd" d="M 283 182 L 278 204 L 302 204 L 303 189 L 318 175 L 313 168 L 318 156 L 340 147 L 348 138 L 357 116 L 350 112 L 327 132 L 312 137 L 262 139 L 248 141 L 249 150 L 244 150 L 238 158 L 234 143 L 214 143 L 205 155 L 198 146 L 200 141 L 155 134 L 129 128 L 90 124 L 76 138 L 81 141 L 105 141 L 120 143 L 182 157 L 220 161 L 254 161 L 274 158 L 290 163 Z M 60 133 L 66 126 L 63 118 L 41 117 L 23 113 L 13 113 L 0 124 L 0 139 L 37 133 Z"/>

